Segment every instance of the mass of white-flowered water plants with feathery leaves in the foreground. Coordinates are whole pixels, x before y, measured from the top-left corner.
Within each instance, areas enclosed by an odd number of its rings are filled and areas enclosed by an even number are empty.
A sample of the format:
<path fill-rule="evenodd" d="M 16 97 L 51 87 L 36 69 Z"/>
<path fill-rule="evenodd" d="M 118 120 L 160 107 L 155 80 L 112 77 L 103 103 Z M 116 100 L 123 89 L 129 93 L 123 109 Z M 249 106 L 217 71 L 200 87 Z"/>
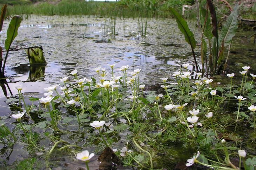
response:
<path fill-rule="evenodd" d="M 195 168 L 201 164 L 206 169 L 254 168 L 256 75 L 247 75 L 250 67 L 240 72 L 241 84 L 232 83 L 238 76 L 233 73 L 228 74 L 230 84 L 215 87 L 214 80 L 202 73 L 191 79 L 188 64 L 183 64 L 180 71 L 169 75 L 176 82 L 161 78 L 162 91 L 156 93 L 145 90 L 147 86 L 139 79 L 141 69 L 130 71 L 128 65 L 122 66 L 120 74 L 114 73 L 115 64 L 109 66 L 111 72 L 98 67 L 90 78 L 79 78 L 73 70 L 70 77 L 45 88 L 44 97 L 30 97 L 31 105 L 25 103 L 18 84 L 17 99 L 9 101 L 16 106 L 9 116 L 16 120 L 15 127 L 10 130 L 8 116 L 1 117 L 1 143 L 12 148 L 23 142 L 29 153 L 40 152 L 46 160 L 52 153 L 66 150 L 70 157 L 84 161 L 87 169 L 94 153 L 84 149 L 92 146 L 96 146 L 95 153 L 110 148 L 124 166 L 142 169 L 173 169 L 175 161 Z M 129 135 L 120 146 L 123 131 Z M 242 138 L 241 131 L 247 136 Z M 43 145 L 40 141 L 45 139 L 53 145 Z M 182 160 L 176 147 L 195 156 L 187 154 Z M 46 162 L 46 167 L 53 167 Z"/>

